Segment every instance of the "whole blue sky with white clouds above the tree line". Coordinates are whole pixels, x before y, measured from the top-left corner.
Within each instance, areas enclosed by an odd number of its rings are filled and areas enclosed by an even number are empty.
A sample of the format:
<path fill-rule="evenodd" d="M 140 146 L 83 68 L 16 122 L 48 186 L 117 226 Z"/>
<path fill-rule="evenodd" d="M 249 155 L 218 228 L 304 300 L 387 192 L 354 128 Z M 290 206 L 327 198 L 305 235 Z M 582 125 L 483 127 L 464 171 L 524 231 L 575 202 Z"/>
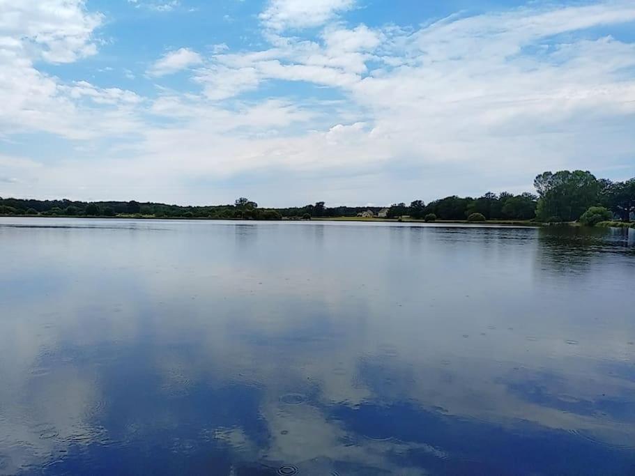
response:
<path fill-rule="evenodd" d="M 635 176 L 635 1 L 0 0 L 0 197 L 388 205 Z"/>

